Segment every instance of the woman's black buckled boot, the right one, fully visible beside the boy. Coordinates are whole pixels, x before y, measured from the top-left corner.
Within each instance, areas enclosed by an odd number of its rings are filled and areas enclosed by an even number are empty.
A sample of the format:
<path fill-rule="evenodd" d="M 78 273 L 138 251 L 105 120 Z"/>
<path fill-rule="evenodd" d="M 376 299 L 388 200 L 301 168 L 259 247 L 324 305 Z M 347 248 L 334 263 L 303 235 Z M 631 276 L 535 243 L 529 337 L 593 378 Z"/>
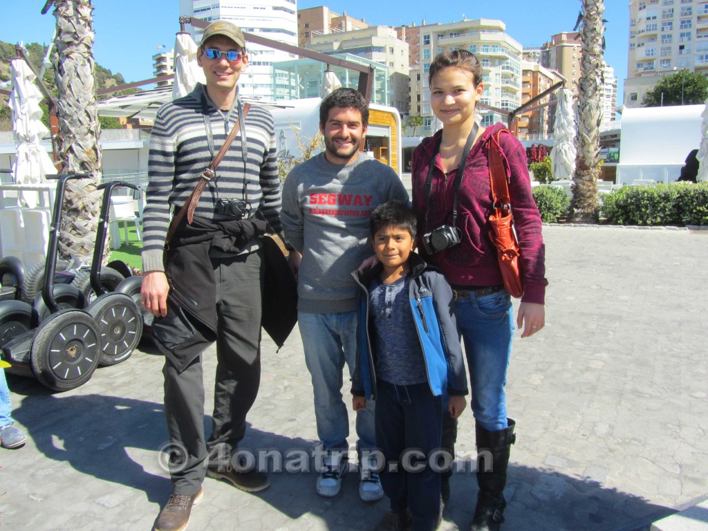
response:
<path fill-rule="evenodd" d="M 516 440 L 516 423 L 509 418 L 508 424 L 508 428 L 498 431 L 488 431 L 476 425 L 479 493 L 470 531 L 499 531 L 504 521 L 506 470 L 511 445 Z"/>

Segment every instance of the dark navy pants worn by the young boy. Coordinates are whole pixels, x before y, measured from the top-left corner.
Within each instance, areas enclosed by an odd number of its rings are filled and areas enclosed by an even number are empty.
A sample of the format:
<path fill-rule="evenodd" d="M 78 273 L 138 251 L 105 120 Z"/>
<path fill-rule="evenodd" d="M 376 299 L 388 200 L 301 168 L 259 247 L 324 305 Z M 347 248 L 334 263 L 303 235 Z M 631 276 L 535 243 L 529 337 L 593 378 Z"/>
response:
<path fill-rule="evenodd" d="M 384 493 L 394 513 L 411 511 L 411 530 L 433 530 L 440 514 L 440 472 L 430 467 L 436 462 L 430 456 L 440 448 L 440 396 L 433 396 L 427 383 L 394 385 L 379 380 L 377 390 L 376 444 L 385 459 Z M 392 463 L 398 465 L 395 472 Z"/>

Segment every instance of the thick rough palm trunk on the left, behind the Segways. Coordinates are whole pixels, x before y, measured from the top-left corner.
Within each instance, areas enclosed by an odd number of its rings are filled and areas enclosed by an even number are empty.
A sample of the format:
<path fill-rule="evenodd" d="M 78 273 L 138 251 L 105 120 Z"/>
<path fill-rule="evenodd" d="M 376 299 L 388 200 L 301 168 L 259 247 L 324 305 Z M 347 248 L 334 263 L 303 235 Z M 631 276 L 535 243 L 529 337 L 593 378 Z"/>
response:
<path fill-rule="evenodd" d="M 67 184 L 59 253 L 90 258 L 100 215 L 101 147 L 96 108 L 91 0 L 55 0 L 59 159 L 63 171 L 90 173 Z"/>

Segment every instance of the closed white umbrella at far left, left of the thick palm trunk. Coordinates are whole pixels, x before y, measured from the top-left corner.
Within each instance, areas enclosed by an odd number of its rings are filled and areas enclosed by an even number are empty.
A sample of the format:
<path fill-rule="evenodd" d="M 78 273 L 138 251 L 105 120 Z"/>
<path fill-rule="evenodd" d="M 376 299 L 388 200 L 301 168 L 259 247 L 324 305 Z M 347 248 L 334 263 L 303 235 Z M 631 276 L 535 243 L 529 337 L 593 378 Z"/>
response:
<path fill-rule="evenodd" d="M 17 184 L 44 183 L 45 175 L 57 173 L 57 169 L 40 144 L 49 130 L 42 123 L 42 93 L 35 85 L 37 76 L 24 59 L 12 59 L 10 69 L 12 92 L 8 105 L 12 110 L 12 126 L 17 139 L 12 175 Z M 37 206 L 37 193 L 22 193 L 21 198 L 30 208 Z"/>

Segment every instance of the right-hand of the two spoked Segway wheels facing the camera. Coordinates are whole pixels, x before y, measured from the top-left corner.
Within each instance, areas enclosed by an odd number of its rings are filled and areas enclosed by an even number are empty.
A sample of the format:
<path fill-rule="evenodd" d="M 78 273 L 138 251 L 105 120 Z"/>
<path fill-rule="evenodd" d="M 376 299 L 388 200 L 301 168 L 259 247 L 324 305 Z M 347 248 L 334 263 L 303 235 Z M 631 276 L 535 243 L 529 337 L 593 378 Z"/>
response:
<path fill-rule="evenodd" d="M 142 314 L 135 301 L 122 293 L 108 293 L 93 301 L 88 312 L 100 334 L 98 365 L 115 365 L 130 358 L 142 336 Z"/>

